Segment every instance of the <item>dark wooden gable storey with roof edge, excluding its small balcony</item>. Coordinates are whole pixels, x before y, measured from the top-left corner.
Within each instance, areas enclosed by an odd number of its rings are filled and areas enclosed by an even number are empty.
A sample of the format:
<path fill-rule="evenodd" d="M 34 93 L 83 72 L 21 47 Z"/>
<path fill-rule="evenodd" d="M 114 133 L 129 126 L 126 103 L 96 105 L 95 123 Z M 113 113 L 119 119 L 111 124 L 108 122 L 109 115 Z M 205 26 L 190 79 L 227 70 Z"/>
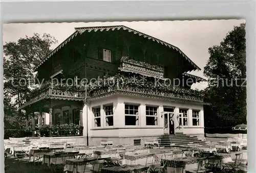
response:
<path fill-rule="evenodd" d="M 107 60 L 104 51 L 110 51 Z M 184 72 L 200 69 L 177 47 L 124 26 L 77 28 L 53 53 L 36 67 L 39 80 L 48 80 L 59 70 L 63 70 L 65 78 L 114 76 L 123 56 L 163 66 L 164 78 L 171 80 L 191 78 Z"/>

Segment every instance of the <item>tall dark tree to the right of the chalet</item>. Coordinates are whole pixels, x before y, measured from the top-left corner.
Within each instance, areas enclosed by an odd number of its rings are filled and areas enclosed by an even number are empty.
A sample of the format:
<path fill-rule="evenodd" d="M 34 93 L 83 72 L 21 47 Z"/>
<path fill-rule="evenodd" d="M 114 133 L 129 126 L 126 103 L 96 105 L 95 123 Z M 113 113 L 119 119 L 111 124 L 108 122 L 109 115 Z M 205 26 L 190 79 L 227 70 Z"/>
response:
<path fill-rule="evenodd" d="M 210 47 L 208 52 L 204 75 L 209 80 L 204 92 L 205 102 L 211 105 L 204 108 L 205 126 L 213 122 L 223 127 L 246 123 L 245 23 L 234 27 L 220 45 Z"/>

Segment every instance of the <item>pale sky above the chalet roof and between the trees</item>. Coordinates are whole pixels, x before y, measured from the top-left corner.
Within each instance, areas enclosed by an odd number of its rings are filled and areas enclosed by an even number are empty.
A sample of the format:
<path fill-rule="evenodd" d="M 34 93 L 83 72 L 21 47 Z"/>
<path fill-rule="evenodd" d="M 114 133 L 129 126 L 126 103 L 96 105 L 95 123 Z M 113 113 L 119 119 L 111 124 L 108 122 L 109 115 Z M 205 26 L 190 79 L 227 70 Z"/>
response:
<path fill-rule="evenodd" d="M 203 68 L 209 59 L 208 48 L 219 45 L 226 34 L 245 20 L 184 20 L 184 21 L 133 21 L 133 22 L 77 22 L 77 23 L 8 23 L 3 26 L 3 43 L 19 38 L 48 33 L 58 44 L 75 32 L 77 27 L 98 27 L 124 25 L 151 35 L 180 48 L 200 68 L 189 73 L 205 78 Z M 205 78 L 206 79 L 206 78 Z M 207 83 L 193 84 L 192 88 L 204 89 Z"/>

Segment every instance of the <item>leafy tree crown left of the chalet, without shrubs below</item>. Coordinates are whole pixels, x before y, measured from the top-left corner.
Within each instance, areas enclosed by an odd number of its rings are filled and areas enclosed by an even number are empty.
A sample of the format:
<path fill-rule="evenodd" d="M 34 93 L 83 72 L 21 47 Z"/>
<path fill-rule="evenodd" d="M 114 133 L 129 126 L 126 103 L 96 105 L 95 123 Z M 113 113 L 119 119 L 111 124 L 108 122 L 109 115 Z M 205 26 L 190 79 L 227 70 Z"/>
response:
<path fill-rule="evenodd" d="M 33 81 L 28 81 L 34 78 L 33 67 L 51 52 L 54 43 L 57 40 L 49 34 L 34 34 L 4 45 L 4 90 L 15 97 L 18 107 L 24 104 L 25 95 L 33 86 Z"/>

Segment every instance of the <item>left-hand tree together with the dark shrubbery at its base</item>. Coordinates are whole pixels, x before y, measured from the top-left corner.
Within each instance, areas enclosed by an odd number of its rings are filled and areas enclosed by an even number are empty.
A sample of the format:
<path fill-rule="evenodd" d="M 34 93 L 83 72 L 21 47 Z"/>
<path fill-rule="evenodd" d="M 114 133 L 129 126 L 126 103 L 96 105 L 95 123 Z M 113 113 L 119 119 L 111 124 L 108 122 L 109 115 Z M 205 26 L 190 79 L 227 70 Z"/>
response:
<path fill-rule="evenodd" d="M 17 108 L 25 103 L 26 94 L 33 90 L 34 81 L 29 81 L 34 78 L 33 67 L 51 52 L 50 46 L 55 43 L 57 40 L 49 34 L 42 37 L 34 34 L 4 45 L 5 129 L 26 126 L 25 115 L 19 113 Z"/>

